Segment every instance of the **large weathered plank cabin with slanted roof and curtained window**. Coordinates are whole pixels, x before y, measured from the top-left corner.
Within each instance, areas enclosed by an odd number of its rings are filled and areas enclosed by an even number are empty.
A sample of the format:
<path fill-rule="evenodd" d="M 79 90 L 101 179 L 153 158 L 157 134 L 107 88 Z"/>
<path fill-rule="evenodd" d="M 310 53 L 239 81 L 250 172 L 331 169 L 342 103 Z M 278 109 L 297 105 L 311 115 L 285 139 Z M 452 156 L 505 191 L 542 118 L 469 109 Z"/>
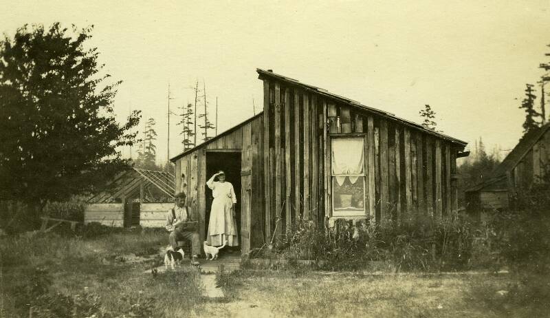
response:
<path fill-rule="evenodd" d="M 225 171 L 237 194 L 241 251 L 271 242 L 300 221 L 385 222 L 456 213 L 456 158 L 466 142 L 306 85 L 271 70 L 263 112 L 171 158 L 176 191 L 201 215 L 206 180 Z"/>

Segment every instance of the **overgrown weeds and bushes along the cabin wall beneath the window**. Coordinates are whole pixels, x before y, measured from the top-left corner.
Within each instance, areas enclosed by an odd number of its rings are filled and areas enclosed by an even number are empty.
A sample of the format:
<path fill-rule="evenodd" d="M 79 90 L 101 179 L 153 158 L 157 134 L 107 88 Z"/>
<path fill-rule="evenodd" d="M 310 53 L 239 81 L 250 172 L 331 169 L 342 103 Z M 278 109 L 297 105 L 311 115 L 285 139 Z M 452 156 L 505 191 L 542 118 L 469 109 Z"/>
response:
<path fill-rule="evenodd" d="M 312 222 L 301 222 L 276 255 L 324 260 L 331 269 L 355 270 L 383 262 L 395 271 L 456 271 L 476 264 L 474 242 L 483 239 L 481 233 L 483 228 L 466 220 L 417 218 L 355 226 L 339 220 L 327 233 Z"/>

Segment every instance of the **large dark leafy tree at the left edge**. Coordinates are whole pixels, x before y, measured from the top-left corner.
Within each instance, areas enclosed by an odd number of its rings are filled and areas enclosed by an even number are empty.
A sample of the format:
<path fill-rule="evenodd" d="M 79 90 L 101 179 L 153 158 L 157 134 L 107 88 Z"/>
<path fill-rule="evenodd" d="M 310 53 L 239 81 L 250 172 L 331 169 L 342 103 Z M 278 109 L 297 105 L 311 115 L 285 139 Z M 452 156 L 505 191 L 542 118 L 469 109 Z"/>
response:
<path fill-rule="evenodd" d="M 113 115 L 120 82 L 101 72 L 93 27 L 24 25 L 0 40 L 0 196 L 27 202 L 21 220 L 39 222 L 48 201 L 89 193 L 129 167 L 140 112 Z"/>

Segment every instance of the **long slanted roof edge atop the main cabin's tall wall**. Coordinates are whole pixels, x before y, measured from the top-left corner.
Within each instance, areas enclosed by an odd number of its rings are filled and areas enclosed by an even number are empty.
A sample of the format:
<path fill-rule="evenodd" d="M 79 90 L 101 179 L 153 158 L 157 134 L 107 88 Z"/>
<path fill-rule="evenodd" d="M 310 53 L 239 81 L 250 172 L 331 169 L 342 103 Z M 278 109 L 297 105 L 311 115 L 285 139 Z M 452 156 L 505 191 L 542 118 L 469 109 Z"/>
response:
<path fill-rule="evenodd" d="M 346 98 L 344 96 L 340 96 L 340 95 L 337 95 L 337 94 L 332 94 L 330 93 L 329 91 L 327 91 L 327 89 L 322 89 L 322 88 L 319 88 L 319 87 L 316 87 L 316 86 L 313 86 L 313 85 L 308 85 L 308 84 L 305 84 L 305 83 L 301 83 L 300 81 L 298 80 L 295 80 L 294 78 L 289 78 L 289 77 L 286 77 L 286 76 L 283 76 L 281 74 L 276 74 L 272 71 L 266 71 L 266 70 L 263 70 L 261 68 L 256 68 L 256 72 L 258 72 L 259 74 L 259 78 L 262 79 L 262 76 L 267 76 L 267 77 L 272 77 L 272 78 L 276 78 L 280 81 L 285 81 L 285 82 L 289 82 L 289 83 L 292 83 L 293 85 L 297 85 L 297 86 L 301 86 L 305 89 L 309 89 L 309 90 L 312 90 L 312 91 L 315 91 L 316 93 L 320 94 L 320 95 L 325 95 L 329 98 L 333 98 L 333 99 L 336 99 L 336 100 L 340 100 L 344 103 L 347 103 L 349 105 L 352 105 L 352 106 L 355 106 L 355 107 L 359 107 L 361 109 L 364 109 L 368 112 L 373 112 L 375 114 L 378 114 L 380 116 L 384 116 L 386 118 L 391 118 L 393 120 L 396 120 L 396 121 L 399 121 L 400 123 L 403 123 L 404 125 L 408 125 L 409 127 L 413 127 L 415 129 L 419 129 L 421 131 L 424 131 L 426 132 L 427 134 L 431 134 L 431 135 L 434 135 L 434 136 L 437 136 L 439 138 L 442 138 L 442 139 L 445 139 L 445 140 L 449 140 L 450 142 L 454 142 L 456 144 L 459 144 L 461 146 L 465 146 L 467 145 L 467 142 L 463 141 L 463 140 L 460 140 L 460 139 L 456 139 L 456 138 L 453 138 L 451 136 L 447 136 L 445 134 L 441 134 L 437 131 L 432 131 L 430 129 L 426 129 L 424 127 L 422 127 L 422 125 L 419 125 L 417 123 L 414 123 L 410 120 L 406 120 L 404 118 L 399 118 L 397 116 L 395 116 L 395 114 L 392 114 L 390 112 L 384 112 L 383 110 L 381 109 L 377 109 L 377 108 L 373 108 L 373 107 L 369 107 L 369 106 L 366 106 L 366 105 L 363 105 L 362 103 L 359 103 L 358 101 L 355 101 L 355 100 L 351 100 L 349 98 Z"/>

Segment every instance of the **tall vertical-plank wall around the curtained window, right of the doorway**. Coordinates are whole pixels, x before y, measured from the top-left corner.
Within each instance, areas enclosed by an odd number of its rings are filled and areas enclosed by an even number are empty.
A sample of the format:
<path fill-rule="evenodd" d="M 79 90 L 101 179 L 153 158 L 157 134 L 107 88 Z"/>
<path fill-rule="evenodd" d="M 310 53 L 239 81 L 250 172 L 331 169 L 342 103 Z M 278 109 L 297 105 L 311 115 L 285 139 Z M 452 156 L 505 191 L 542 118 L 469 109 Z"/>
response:
<path fill-rule="evenodd" d="M 303 87 L 263 81 L 266 238 L 275 230 L 275 237 L 281 237 L 300 220 L 326 224 L 331 134 L 365 136 L 367 218 L 443 218 L 458 208 L 452 178 L 461 145 Z"/>

